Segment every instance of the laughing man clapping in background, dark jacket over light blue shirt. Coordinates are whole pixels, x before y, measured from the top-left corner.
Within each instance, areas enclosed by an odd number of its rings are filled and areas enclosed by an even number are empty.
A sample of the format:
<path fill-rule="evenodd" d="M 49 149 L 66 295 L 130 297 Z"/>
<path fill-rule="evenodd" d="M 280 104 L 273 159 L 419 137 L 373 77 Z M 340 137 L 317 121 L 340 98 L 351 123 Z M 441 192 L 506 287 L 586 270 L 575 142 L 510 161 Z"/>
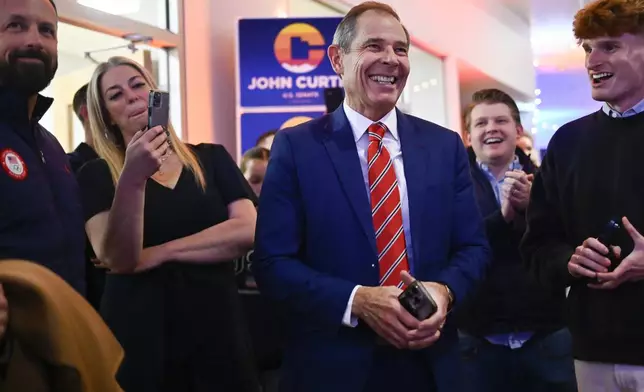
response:
<path fill-rule="evenodd" d="M 519 108 L 505 92 L 486 89 L 473 94 L 464 117 L 493 254 L 480 287 L 456 313 L 467 391 L 575 392 L 565 291 L 540 286 L 519 254 L 537 170 L 518 148 Z"/>

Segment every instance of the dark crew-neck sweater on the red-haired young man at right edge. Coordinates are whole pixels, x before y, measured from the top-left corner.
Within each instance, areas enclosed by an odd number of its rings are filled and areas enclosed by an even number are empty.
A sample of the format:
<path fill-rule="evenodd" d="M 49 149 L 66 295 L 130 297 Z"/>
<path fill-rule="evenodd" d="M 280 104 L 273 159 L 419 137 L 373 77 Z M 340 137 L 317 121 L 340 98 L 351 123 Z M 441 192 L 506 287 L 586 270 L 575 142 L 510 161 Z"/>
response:
<path fill-rule="evenodd" d="M 532 187 L 521 251 L 543 284 L 571 285 L 568 321 L 573 355 L 585 361 L 644 365 L 644 282 L 614 290 L 588 288 L 568 261 L 614 217 L 627 216 L 644 233 L 644 113 L 611 118 L 597 111 L 553 136 Z M 615 245 L 628 255 L 624 232 Z"/>

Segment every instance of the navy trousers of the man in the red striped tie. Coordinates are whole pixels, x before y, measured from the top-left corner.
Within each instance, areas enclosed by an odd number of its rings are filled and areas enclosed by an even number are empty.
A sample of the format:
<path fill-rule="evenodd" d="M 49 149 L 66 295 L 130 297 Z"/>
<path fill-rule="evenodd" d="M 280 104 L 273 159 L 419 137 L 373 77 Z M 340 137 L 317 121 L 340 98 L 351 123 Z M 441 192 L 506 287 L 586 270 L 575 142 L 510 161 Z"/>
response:
<path fill-rule="evenodd" d="M 435 392 L 429 362 L 422 353 L 379 346 L 364 392 Z"/>

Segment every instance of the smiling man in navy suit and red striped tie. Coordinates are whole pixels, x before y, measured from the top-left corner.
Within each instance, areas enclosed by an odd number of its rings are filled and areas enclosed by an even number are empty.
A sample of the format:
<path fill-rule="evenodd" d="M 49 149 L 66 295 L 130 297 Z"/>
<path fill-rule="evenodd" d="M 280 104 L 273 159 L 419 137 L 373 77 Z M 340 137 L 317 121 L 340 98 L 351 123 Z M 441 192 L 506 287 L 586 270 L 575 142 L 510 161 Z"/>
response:
<path fill-rule="evenodd" d="M 447 314 L 489 250 L 458 134 L 395 109 L 408 51 L 391 7 L 354 7 L 328 50 L 345 102 L 273 143 L 253 271 L 287 315 L 280 391 L 460 390 Z M 412 275 L 424 321 L 398 302 Z"/>

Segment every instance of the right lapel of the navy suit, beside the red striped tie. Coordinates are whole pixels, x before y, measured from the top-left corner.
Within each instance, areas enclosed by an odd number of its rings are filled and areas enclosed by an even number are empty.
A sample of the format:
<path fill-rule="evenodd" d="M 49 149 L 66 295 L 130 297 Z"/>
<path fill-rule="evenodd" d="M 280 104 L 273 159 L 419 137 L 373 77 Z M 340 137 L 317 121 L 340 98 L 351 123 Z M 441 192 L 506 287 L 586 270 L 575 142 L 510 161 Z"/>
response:
<path fill-rule="evenodd" d="M 416 128 L 409 118 L 398 111 L 398 135 L 405 166 L 405 182 L 407 183 L 407 200 L 409 202 L 409 220 L 411 226 L 411 240 L 414 251 L 414 264 L 418 265 L 420 258 L 420 242 L 423 238 L 423 208 L 426 200 L 426 176 L 428 149 L 420 130 Z M 416 269 L 417 271 L 417 269 Z"/>

